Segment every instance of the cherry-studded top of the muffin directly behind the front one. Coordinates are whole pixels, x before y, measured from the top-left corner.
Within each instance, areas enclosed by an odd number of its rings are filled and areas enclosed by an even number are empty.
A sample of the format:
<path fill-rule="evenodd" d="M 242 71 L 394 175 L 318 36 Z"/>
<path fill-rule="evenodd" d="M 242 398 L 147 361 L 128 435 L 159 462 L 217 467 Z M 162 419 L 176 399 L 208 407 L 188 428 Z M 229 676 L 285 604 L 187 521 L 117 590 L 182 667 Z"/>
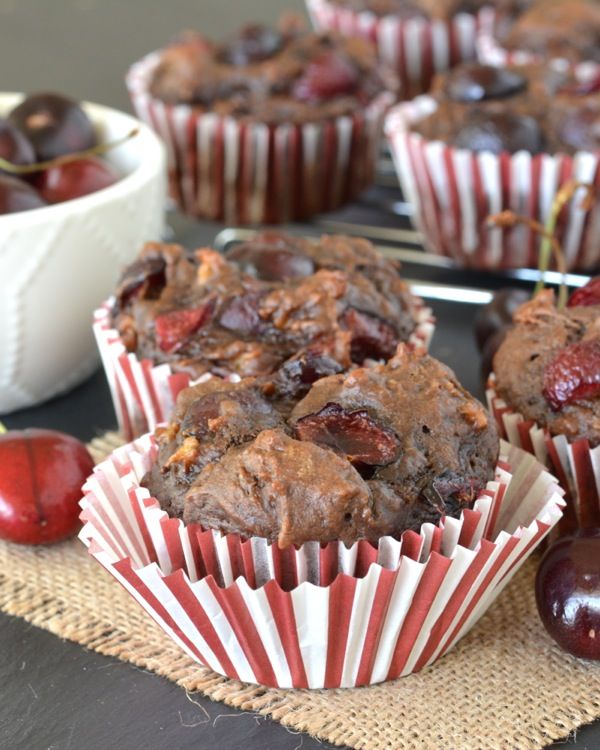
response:
<path fill-rule="evenodd" d="M 297 394 L 323 375 L 388 359 L 422 303 L 363 239 L 265 232 L 223 256 L 149 244 L 118 285 L 113 323 L 141 359 L 197 378 L 267 377 Z"/>

